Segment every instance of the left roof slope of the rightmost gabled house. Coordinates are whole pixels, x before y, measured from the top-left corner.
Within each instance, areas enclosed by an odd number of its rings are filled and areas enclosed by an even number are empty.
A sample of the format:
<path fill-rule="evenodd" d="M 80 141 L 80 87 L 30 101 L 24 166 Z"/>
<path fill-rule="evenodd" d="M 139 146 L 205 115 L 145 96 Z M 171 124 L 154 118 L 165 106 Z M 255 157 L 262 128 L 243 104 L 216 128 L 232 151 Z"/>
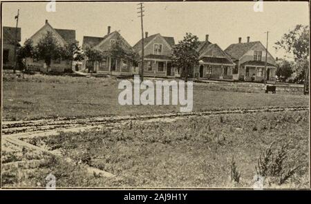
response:
<path fill-rule="evenodd" d="M 229 45 L 229 47 L 225 49 L 225 52 L 233 59 L 240 59 L 248 50 L 256 45 L 256 43 L 260 43 L 260 41 L 253 41 L 249 43 L 234 43 Z"/>

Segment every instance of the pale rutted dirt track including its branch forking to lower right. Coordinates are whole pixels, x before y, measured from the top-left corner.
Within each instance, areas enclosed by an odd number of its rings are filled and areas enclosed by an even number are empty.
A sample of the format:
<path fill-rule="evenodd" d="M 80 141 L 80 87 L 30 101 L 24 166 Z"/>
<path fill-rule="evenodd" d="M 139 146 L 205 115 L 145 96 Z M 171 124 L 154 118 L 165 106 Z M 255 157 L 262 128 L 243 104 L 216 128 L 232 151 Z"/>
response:
<path fill-rule="evenodd" d="M 113 130 L 122 129 L 124 125 L 129 125 L 131 121 L 137 123 L 152 123 L 154 121 L 173 122 L 178 119 L 184 119 L 194 116 L 208 116 L 216 114 L 245 114 L 252 112 L 284 112 L 284 111 L 301 111 L 309 110 L 308 106 L 289 107 L 289 108 L 257 108 L 257 109 L 232 109 L 232 110 L 208 110 L 200 112 L 189 113 L 169 113 L 169 114 L 151 114 L 140 116 L 106 116 L 106 117 L 88 117 L 88 118 L 59 118 L 59 119 L 39 119 L 32 121 L 3 121 L 2 122 L 2 137 L 1 139 L 10 146 L 17 146 L 20 148 L 28 148 L 30 150 L 37 150 L 47 154 L 57 156 L 68 163 L 72 163 L 70 158 L 63 158 L 57 152 L 45 150 L 43 147 L 38 147 L 23 141 L 39 136 L 53 136 L 57 135 L 59 131 L 63 132 L 78 132 L 84 130 L 91 130 L 93 128 L 111 128 Z M 2 141 L 2 142 L 3 142 Z M 3 151 L 10 149 L 10 147 L 3 148 Z M 19 152 L 19 151 L 17 151 Z M 28 165 L 36 166 L 41 161 L 27 161 Z M 10 169 L 12 165 L 18 163 L 7 163 L 7 168 Z M 105 177 L 114 177 L 110 172 L 99 170 L 95 167 L 87 167 L 88 174 Z"/>

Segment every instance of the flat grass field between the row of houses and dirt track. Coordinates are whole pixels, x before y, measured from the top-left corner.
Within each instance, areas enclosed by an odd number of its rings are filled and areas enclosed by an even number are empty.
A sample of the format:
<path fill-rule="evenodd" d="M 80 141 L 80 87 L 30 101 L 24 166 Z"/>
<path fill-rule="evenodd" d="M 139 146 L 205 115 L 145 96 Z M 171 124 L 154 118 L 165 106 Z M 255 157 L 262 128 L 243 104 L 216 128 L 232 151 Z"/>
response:
<path fill-rule="evenodd" d="M 3 120 L 179 112 L 178 105 L 119 105 L 120 79 L 12 74 L 3 76 Z M 194 111 L 308 105 L 299 88 L 265 94 L 263 85 L 194 83 Z"/>

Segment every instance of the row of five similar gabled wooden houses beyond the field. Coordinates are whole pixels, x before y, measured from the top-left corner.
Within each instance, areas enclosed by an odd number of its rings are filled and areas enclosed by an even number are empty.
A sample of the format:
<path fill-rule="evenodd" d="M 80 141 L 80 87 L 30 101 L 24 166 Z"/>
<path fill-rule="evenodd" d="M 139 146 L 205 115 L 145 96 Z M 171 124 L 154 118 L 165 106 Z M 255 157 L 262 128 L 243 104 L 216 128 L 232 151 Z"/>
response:
<path fill-rule="evenodd" d="M 36 44 L 48 31 L 53 32 L 62 45 L 75 41 L 75 30 L 55 29 L 50 26 L 47 20 L 44 26 L 35 32 L 30 39 Z M 116 41 L 121 42 L 124 49 L 142 55 L 142 40 L 132 47 L 120 32 L 111 32 L 110 26 L 108 26 L 104 37 L 84 36 L 82 48 L 86 49 L 88 47 L 101 52 L 109 52 Z M 185 70 L 178 70 L 172 64 L 171 57 L 175 43 L 173 37 L 165 37 L 160 33 L 149 36 L 148 32 L 145 33 L 144 76 L 180 77 L 185 74 Z M 263 81 L 266 51 L 265 46 L 260 41 L 250 41 L 250 38 L 247 37 L 247 41 L 242 42 L 240 37 L 237 43 L 232 43 L 223 50 L 217 43 L 211 43 L 209 34 L 206 34 L 205 40 L 200 41 L 197 51 L 199 53 L 199 64 L 194 65 L 188 71 L 190 77 L 224 81 Z M 44 69 L 43 61 L 28 59 L 27 62 L 32 68 Z M 71 69 L 70 62 L 60 59 L 52 61 L 51 68 L 58 72 Z M 86 59 L 82 63 L 82 69 L 110 75 L 132 76 L 139 73 L 139 68 L 140 64 L 135 65 L 129 59 L 113 57 L 106 57 L 102 61 L 88 61 Z M 276 61 L 267 52 L 266 80 L 274 83 L 276 81 L 275 76 Z"/>

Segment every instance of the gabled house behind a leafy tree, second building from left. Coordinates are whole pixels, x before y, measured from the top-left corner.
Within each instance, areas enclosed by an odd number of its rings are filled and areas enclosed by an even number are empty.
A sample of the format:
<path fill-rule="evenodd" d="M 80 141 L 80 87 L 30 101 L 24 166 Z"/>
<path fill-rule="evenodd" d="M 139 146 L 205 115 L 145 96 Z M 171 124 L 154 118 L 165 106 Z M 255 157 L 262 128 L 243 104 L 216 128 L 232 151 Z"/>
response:
<path fill-rule="evenodd" d="M 75 42 L 75 30 L 53 28 L 52 26 L 50 26 L 50 23 L 48 23 L 48 20 L 46 20 L 44 26 L 40 28 L 37 32 L 35 32 L 32 37 L 30 37 L 30 39 L 32 40 L 32 45 L 37 45 L 42 37 L 44 37 L 44 35 L 48 32 L 52 32 L 53 37 L 55 37 L 55 39 L 61 46 L 64 46 L 66 43 Z M 26 59 L 26 65 L 28 70 L 36 70 L 41 72 L 66 72 L 67 70 L 72 70 L 72 63 L 69 60 L 64 59 L 52 59 L 50 63 L 50 68 L 46 67 L 44 60 L 38 60 L 35 58 Z"/>

